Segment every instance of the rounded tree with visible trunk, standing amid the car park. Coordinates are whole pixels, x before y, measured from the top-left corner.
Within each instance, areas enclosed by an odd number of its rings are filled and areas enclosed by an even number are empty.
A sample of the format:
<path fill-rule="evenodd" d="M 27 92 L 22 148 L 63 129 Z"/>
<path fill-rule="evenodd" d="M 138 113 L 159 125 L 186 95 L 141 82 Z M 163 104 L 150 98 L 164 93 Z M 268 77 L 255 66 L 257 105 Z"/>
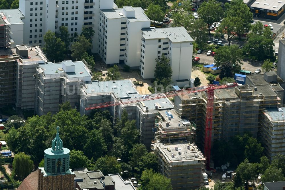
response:
<path fill-rule="evenodd" d="M 217 27 L 217 33 L 225 35 L 229 46 L 231 45 L 232 38 L 240 34 L 243 30 L 243 23 L 239 17 L 225 17 L 219 27 Z"/>

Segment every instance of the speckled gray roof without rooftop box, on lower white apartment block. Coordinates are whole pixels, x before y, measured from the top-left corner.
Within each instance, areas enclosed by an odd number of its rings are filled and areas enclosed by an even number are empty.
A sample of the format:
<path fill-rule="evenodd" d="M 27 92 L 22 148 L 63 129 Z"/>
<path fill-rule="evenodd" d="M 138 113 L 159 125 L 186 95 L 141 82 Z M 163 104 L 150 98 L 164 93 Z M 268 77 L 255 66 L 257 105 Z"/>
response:
<path fill-rule="evenodd" d="M 142 29 L 144 39 L 161 39 L 168 38 L 173 43 L 175 42 L 194 42 L 191 36 L 187 33 L 184 27 L 170 28 L 146 28 Z M 170 34 L 171 33 L 171 34 Z"/>

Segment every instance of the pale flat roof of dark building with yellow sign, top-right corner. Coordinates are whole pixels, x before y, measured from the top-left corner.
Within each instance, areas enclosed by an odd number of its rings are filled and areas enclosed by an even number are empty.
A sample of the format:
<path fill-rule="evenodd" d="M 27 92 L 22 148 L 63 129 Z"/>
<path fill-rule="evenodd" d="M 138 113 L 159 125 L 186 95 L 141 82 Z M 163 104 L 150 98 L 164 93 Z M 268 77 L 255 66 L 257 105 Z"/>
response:
<path fill-rule="evenodd" d="M 280 0 L 280 1 L 277 1 L 277 0 L 255 0 L 251 4 L 249 4 L 249 7 L 278 11 L 284 5 L 285 5 L 285 1 L 283 1 L 283 0 Z"/>

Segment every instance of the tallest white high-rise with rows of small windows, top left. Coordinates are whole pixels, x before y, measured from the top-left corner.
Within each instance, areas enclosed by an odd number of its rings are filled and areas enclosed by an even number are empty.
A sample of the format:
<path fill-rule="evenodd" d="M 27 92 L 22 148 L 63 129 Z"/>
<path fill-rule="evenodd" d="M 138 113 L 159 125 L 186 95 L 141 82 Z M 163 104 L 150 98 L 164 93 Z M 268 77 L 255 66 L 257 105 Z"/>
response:
<path fill-rule="evenodd" d="M 43 46 L 44 34 L 48 30 L 59 32 L 60 26 L 67 27 L 71 37 L 74 33 L 80 35 L 82 27 L 91 27 L 95 31 L 92 41 L 96 53 L 100 9 L 113 7 L 116 8 L 113 0 L 20 0 L 19 9 L 25 15 L 23 43 Z"/>

